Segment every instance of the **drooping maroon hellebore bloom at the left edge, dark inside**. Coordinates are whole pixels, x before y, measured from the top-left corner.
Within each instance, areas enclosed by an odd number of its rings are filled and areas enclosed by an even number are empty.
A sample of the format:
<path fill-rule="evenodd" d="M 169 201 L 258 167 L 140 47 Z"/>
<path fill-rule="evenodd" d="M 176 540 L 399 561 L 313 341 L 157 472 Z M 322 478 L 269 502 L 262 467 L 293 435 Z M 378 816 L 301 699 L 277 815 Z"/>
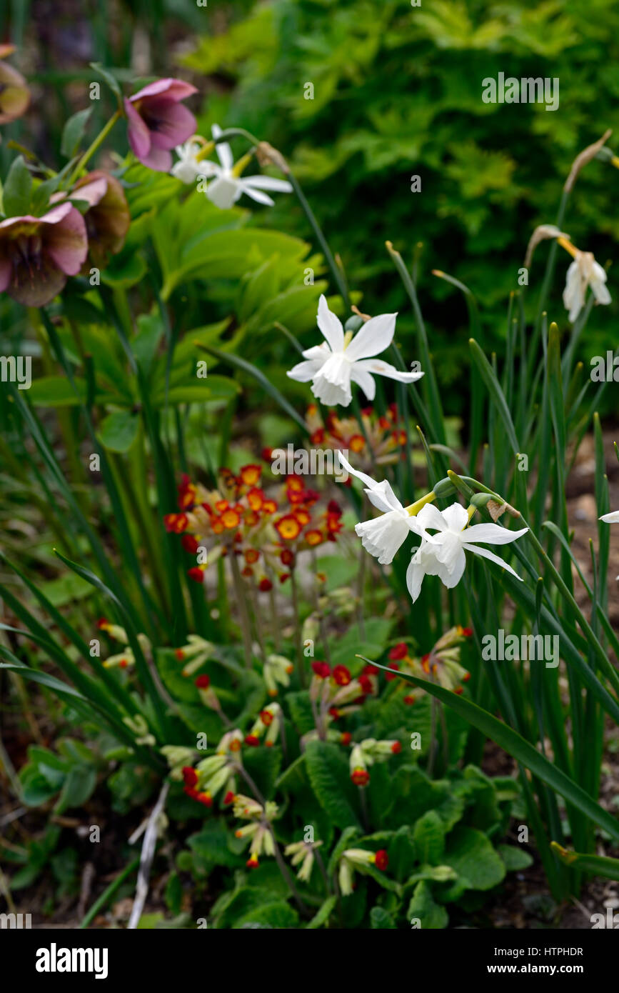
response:
<path fill-rule="evenodd" d="M 25 307 L 43 307 L 75 276 L 88 251 L 84 219 L 71 204 L 43 217 L 25 214 L 0 223 L 0 293 Z"/>

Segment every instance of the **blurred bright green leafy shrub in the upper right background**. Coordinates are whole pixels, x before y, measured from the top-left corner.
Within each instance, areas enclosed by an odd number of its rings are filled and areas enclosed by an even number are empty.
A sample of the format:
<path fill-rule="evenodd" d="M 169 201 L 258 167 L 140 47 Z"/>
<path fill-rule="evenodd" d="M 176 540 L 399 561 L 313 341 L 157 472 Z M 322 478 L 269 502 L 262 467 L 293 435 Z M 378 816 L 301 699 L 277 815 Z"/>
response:
<path fill-rule="evenodd" d="M 517 288 L 527 240 L 552 223 L 575 155 L 619 126 L 619 8 L 612 0 L 488 4 L 484 0 L 272 0 L 231 4 L 229 23 L 205 19 L 183 59 L 211 77 L 203 124 L 241 125 L 289 158 L 353 289 L 368 312 L 402 307 L 384 250 L 392 239 L 421 256 L 420 296 L 456 382 L 468 337 L 462 298 L 430 270 L 466 283 L 481 305 L 486 347 L 505 335 L 504 304 Z M 485 104 L 482 79 L 550 76 L 559 107 Z M 214 80 L 214 81 L 213 81 Z M 313 83 L 314 98 L 304 98 Z M 613 148 L 613 139 L 609 145 Z M 411 192 L 420 175 L 422 193 Z M 619 229 L 619 174 L 601 162 L 580 175 L 563 229 L 604 264 Z M 292 200 L 292 198 L 291 198 Z M 265 218 L 291 229 L 291 203 Z M 293 208 L 298 231 L 305 219 Z M 548 243 L 530 273 L 538 296 Z M 561 252 L 562 255 L 562 252 Z M 551 318 L 567 330 L 559 264 Z M 612 272 L 609 287 L 613 297 Z M 430 299 L 429 299 L 430 298 Z M 592 315 L 583 357 L 609 347 L 616 304 Z"/>

